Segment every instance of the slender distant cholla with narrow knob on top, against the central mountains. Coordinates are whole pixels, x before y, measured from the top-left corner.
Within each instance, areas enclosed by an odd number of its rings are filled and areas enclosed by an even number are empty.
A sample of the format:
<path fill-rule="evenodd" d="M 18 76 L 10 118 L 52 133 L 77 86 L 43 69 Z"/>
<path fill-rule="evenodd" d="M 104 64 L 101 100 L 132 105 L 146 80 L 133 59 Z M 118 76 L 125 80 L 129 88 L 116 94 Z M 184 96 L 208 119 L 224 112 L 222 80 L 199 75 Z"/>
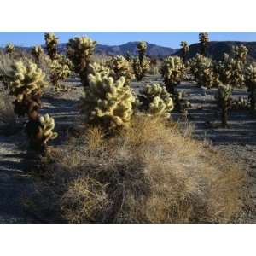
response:
<path fill-rule="evenodd" d="M 138 57 L 134 58 L 132 61 L 133 73 L 137 81 L 141 81 L 150 68 L 149 61 L 146 57 L 146 50 L 146 42 L 142 41 L 137 44 Z"/>

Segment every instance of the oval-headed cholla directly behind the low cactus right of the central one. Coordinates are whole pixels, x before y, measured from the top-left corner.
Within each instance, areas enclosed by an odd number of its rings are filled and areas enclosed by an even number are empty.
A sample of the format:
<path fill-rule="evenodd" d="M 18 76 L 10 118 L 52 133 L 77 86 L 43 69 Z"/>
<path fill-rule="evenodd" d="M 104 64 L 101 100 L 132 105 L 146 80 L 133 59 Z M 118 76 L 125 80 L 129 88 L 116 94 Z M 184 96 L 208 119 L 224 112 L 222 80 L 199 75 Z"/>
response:
<path fill-rule="evenodd" d="M 160 68 L 160 73 L 166 84 L 166 90 L 174 94 L 177 84 L 180 84 L 183 76 L 183 61 L 180 57 L 167 57 Z"/>

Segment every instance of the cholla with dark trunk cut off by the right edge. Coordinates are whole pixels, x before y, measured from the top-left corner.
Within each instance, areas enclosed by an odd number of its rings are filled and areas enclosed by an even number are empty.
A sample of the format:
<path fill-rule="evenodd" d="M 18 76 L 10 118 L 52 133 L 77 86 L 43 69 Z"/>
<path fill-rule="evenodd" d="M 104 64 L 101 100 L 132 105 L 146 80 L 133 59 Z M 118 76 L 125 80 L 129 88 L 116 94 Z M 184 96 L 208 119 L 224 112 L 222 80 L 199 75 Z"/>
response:
<path fill-rule="evenodd" d="M 246 70 L 246 85 L 249 92 L 251 110 L 256 110 L 256 66 L 251 64 Z"/>

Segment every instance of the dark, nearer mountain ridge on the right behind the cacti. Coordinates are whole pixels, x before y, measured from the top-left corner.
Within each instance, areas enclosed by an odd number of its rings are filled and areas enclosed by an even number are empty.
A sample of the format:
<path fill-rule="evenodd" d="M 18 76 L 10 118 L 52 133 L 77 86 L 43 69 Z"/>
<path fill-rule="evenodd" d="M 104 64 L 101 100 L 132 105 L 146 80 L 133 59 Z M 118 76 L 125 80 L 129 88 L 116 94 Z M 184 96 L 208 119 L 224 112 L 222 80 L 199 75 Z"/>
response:
<path fill-rule="evenodd" d="M 230 54 L 232 46 L 245 45 L 248 49 L 247 59 L 249 61 L 256 61 L 256 42 L 239 42 L 239 41 L 212 41 L 209 42 L 207 48 L 207 55 L 213 60 L 220 61 L 224 53 Z M 188 58 L 192 58 L 196 53 L 200 52 L 200 44 L 191 44 L 189 46 Z M 180 50 L 177 51 L 180 55 Z"/>

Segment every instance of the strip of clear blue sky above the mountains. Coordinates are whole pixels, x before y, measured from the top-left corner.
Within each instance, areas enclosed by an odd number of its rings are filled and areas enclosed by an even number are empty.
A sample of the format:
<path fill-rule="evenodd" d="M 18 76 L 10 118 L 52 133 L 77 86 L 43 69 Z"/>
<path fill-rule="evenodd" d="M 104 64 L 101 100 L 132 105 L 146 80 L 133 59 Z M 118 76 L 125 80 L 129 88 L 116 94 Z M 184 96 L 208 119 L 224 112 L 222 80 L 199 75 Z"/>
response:
<path fill-rule="evenodd" d="M 69 38 L 87 35 L 98 44 L 119 45 L 129 41 L 145 40 L 148 43 L 178 48 L 180 41 L 198 42 L 198 32 L 55 32 L 61 43 Z M 212 41 L 256 41 L 256 32 L 209 32 Z M 20 46 L 44 44 L 44 32 L 0 32 L 0 45 L 11 42 Z"/>

